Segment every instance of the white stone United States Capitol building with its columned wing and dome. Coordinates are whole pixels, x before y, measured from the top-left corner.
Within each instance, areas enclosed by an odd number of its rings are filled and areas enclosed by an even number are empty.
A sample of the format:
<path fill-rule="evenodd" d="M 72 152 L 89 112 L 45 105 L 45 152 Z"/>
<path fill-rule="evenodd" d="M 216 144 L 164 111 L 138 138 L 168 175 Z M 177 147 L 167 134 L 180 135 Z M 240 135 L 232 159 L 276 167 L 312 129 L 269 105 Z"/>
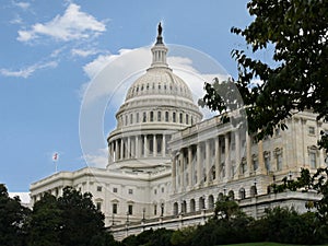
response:
<path fill-rule="evenodd" d="M 32 202 L 45 192 L 60 196 L 72 186 L 91 192 L 116 238 L 147 229 L 202 224 L 215 200 L 230 196 L 255 218 L 265 208 L 293 206 L 317 199 L 312 192 L 270 192 L 282 178 L 296 178 L 302 167 L 325 166 L 317 148 L 328 125 L 309 112 L 286 119 L 288 130 L 255 141 L 239 122 L 220 116 L 202 120 L 187 83 L 167 65 L 167 47 L 159 31 L 151 48 L 152 63 L 129 87 L 107 138 L 106 168 L 59 172 L 31 185 Z"/>

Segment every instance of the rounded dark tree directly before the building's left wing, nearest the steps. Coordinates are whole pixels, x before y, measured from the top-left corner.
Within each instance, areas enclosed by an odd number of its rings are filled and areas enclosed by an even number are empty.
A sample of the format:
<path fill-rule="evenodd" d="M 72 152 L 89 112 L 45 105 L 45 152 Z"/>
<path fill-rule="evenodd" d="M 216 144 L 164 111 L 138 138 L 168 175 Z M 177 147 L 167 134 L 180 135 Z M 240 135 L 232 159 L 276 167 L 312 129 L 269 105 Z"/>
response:
<path fill-rule="evenodd" d="M 66 187 L 58 198 L 61 210 L 61 243 L 65 246 L 89 246 L 92 238 L 104 231 L 104 214 L 92 201 L 92 195 L 81 194 L 72 187 Z"/>

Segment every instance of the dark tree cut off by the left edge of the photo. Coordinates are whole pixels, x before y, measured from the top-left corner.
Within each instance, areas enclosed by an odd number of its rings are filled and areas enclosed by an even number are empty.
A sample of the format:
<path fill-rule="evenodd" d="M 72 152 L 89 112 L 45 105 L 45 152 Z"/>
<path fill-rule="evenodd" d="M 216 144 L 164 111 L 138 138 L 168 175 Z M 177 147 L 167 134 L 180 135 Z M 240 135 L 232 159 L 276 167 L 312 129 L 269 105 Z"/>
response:
<path fill-rule="evenodd" d="M 21 204 L 20 198 L 10 198 L 3 184 L 0 184 L 0 245 L 24 245 L 25 223 L 30 210 Z"/>

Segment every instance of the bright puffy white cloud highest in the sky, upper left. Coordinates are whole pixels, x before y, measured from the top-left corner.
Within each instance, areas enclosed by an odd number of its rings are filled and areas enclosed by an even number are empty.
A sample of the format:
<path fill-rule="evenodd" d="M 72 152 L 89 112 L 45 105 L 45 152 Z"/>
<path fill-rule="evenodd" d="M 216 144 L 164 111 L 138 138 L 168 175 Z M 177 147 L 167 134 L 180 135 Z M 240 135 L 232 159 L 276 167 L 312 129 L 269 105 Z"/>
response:
<path fill-rule="evenodd" d="M 17 40 L 31 42 L 40 36 L 69 42 L 87 39 L 106 31 L 104 22 L 80 11 L 80 5 L 70 3 L 62 15 L 55 16 L 50 22 L 36 23 L 30 30 L 20 30 Z"/>

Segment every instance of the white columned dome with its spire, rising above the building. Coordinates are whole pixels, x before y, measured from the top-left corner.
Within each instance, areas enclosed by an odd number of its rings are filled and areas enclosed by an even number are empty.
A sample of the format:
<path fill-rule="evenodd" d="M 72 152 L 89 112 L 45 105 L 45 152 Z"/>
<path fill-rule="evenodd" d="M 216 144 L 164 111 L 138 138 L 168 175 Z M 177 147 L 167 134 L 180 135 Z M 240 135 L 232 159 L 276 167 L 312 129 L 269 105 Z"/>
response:
<path fill-rule="evenodd" d="M 188 85 L 166 63 L 167 48 L 159 32 L 145 74 L 129 87 L 108 136 L 108 168 L 155 171 L 169 163 L 172 133 L 202 118 Z"/>

